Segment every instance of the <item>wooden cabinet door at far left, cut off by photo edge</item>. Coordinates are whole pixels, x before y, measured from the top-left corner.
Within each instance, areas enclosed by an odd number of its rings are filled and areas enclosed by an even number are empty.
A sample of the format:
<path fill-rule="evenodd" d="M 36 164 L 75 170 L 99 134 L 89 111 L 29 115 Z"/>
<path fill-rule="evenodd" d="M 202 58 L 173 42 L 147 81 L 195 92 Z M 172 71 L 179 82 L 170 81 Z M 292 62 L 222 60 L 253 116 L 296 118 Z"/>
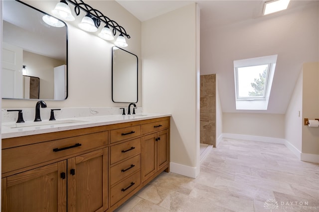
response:
<path fill-rule="evenodd" d="M 65 160 L 2 178 L 1 183 L 2 212 L 66 212 Z"/>

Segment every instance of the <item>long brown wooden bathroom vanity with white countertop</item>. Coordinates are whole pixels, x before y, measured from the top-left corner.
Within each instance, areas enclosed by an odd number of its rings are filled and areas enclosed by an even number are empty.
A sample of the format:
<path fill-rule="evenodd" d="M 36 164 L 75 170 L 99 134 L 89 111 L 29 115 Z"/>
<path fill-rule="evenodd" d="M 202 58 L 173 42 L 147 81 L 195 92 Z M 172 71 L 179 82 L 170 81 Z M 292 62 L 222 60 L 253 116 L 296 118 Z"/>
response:
<path fill-rule="evenodd" d="M 1 211 L 114 211 L 169 172 L 169 116 L 2 131 Z"/>

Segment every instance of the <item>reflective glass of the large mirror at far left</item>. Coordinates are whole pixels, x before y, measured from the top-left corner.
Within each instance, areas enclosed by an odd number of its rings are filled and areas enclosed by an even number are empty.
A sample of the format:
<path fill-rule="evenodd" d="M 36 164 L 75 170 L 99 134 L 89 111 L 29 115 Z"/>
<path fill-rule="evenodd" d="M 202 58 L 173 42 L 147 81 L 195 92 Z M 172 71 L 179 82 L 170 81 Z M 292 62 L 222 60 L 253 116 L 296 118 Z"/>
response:
<path fill-rule="evenodd" d="M 39 79 L 38 98 L 67 98 L 67 26 L 54 27 L 48 15 L 21 1 L 4 0 L 2 30 L 1 95 L 3 99 L 33 99 L 23 75 Z M 45 18 L 44 18 L 45 19 Z M 22 70 L 22 67 L 26 67 Z M 63 74 L 55 70 L 63 67 Z M 24 73 L 22 73 L 24 72 Z M 62 83 L 61 83 L 62 82 Z M 62 90 L 62 91 L 60 91 Z M 59 91 L 59 94 L 56 92 Z M 62 94 L 62 95 L 61 95 Z"/>

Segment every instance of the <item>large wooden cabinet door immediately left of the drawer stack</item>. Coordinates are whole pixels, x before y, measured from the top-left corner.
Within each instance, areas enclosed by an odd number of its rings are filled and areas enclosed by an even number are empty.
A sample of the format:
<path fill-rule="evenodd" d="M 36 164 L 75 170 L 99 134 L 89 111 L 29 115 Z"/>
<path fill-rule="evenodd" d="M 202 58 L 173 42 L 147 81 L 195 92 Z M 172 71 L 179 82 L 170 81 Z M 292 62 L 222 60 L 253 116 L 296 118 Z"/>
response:
<path fill-rule="evenodd" d="M 107 149 L 68 159 L 68 212 L 107 210 Z"/>

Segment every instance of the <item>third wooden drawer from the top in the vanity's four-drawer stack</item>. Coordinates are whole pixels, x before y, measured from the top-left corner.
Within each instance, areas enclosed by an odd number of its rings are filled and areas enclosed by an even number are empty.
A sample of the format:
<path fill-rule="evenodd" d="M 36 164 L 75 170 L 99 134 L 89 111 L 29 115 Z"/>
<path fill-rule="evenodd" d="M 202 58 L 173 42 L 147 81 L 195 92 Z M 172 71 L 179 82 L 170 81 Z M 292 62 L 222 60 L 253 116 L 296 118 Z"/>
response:
<path fill-rule="evenodd" d="M 110 170 L 110 181 L 111 185 L 122 180 L 123 178 L 129 176 L 133 172 L 141 168 L 141 155 L 137 155 L 133 158 L 130 158 L 122 163 L 119 163 Z"/>

